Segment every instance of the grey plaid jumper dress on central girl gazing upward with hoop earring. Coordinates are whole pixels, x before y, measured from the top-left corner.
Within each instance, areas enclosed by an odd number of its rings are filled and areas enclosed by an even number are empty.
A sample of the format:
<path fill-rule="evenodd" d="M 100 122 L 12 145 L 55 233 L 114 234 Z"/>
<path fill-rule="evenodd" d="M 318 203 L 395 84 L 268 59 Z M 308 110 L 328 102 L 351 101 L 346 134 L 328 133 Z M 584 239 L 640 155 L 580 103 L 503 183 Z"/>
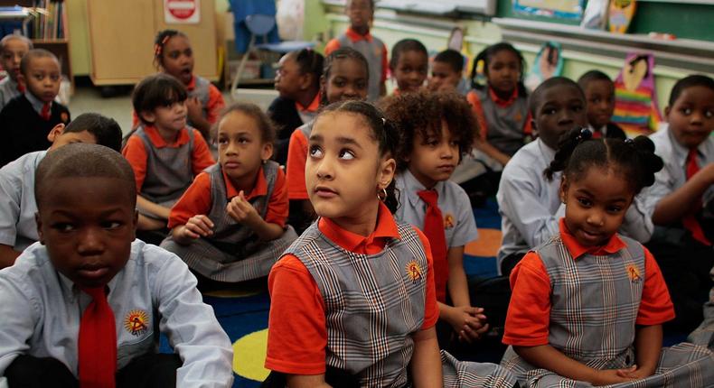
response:
<path fill-rule="evenodd" d="M 326 365 L 355 375 L 361 386 L 410 386 L 412 335 L 421 329 L 427 255 L 412 226 L 379 254 L 355 254 L 327 239 L 318 223 L 287 249 L 305 264 L 324 299 Z M 417 268 L 418 270 L 415 270 Z M 442 353 L 446 387 L 508 387 L 515 378 L 498 365 L 460 363 Z"/>

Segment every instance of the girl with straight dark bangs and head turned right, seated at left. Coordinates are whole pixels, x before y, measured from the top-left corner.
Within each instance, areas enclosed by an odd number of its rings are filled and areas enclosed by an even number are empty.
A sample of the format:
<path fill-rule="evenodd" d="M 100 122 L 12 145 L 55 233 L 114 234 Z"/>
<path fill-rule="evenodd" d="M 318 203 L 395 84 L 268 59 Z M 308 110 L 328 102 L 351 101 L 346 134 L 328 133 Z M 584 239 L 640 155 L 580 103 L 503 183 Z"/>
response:
<path fill-rule="evenodd" d="M 136 176 L 139 231 L 165 229 L 171 207 L 193 177 L 214 163 L 202 134 L 186 127 L 187 97 L 183 84 L 164 73 L 142 79 L 132 94 L 141 125 L 122 153 Z M 164 239 L 150 236 L 142 237 L 155 244 Z"/>

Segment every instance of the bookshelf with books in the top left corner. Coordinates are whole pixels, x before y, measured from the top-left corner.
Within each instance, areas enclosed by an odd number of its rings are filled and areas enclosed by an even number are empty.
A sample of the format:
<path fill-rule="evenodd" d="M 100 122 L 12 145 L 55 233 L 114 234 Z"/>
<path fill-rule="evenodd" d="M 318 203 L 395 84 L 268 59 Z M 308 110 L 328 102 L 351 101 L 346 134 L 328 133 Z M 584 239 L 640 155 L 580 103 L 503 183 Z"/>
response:
<path fill-rule="evenodd" d="M 70 62 L 70 29 L 66 4 L 62 0 L 0 0 L 0 6 L 19 5 L 26 11 L 22 16 L 21 32 L 33 41 L 35 49 L 52 52 L 60 60 L 62 75 L 74 88 Z M 19 16 L 18 16 L 19 17 Z"/>

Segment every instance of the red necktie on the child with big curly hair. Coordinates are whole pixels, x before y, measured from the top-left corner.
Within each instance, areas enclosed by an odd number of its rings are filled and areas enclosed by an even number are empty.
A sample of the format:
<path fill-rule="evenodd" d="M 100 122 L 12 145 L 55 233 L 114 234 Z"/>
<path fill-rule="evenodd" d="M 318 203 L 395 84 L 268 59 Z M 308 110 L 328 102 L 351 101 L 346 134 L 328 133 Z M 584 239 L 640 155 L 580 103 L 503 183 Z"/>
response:
<path fill-rule="evenodd" d="M 446 263 L 446 233 L 444 217 L 441 214 L 434 190 L 417 192 L 420 199 L 427 202 L 427 214 L 424 217 L 424 234 L 431 245 L 431 255 L 434 259 L 434 282 L 437 288 L 437 300 L 446 302 L 446 280 L 448 279 L 448 263 Z"/>

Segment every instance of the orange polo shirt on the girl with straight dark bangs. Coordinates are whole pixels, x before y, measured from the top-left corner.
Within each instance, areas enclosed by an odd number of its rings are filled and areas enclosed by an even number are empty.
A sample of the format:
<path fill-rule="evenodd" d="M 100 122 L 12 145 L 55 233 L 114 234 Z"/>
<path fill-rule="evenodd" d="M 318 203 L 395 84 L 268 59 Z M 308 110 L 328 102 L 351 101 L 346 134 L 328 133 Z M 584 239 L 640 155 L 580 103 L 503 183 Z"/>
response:
<path fill-rule="evenodd" d="M 193 131 L 193 153 L 191 155 L 191 169 L 193 175 L 198 175 L 203 169 L 211 164 L 215 163 L 213 161 L 213 156 L 211 156 L 211 151 L 208 149 L 208 144 L 203 140 L 201 133 L 191 128 Z M 149 138 L 152 146 L 156 148 L 172 147 L 179 148 L 184 144 L 188 144 L 188 128 L 183 128 L 179 131 L 176 136 L 176 141 L 174 143 L 166 143 L 161 134 L 159 134 L 158 129 L 153 125 L 147 125 L 144 127 L 144 131 Z M 134 170 L 134 176 L 136 178 L 136 192 L 141 192 L 141 188 L 144 185 L 144 179 L 146 178 L 146 148 L 144 148 L 144 142 L 136 134 L 129 136 L 127 140 L 127 145 L 121 150 L 122 155 L 127 159 L 131 168 Z"/>

